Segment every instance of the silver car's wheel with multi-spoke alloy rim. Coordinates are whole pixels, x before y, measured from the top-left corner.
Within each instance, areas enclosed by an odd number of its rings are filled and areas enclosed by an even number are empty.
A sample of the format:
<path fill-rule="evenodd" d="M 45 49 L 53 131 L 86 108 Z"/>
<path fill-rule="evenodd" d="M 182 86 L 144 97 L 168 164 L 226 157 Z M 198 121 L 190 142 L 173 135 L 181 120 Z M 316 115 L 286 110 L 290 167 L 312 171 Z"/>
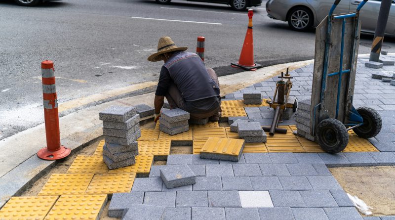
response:
<path fill-rule="evenodd" d="M 292 8 L 288 15 L 288 25 L 295 31 L 309 30 L 313 21 L 313 13 L 305 7 Z"/>

